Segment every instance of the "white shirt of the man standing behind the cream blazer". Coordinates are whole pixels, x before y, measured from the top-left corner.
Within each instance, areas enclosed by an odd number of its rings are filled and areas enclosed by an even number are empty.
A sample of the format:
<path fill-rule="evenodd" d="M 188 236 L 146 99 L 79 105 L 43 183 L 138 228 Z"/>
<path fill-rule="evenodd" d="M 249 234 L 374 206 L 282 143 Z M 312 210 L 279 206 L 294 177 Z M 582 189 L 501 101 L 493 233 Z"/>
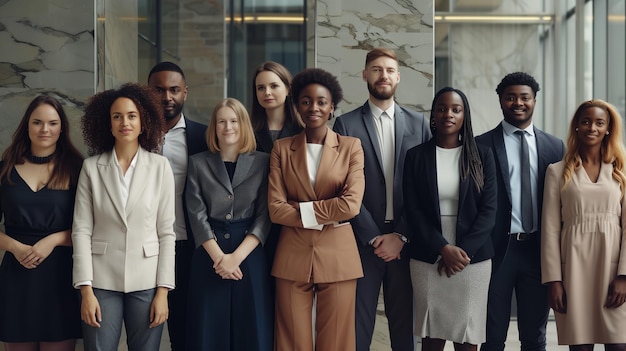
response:
<path fill-rule="evenodd" d="M 170 161 L 170 166 L 174 172 L 174 208 L 176 211 L 174 233 L 176 233 L 176 240 L 187 240 L 185 209 L 183 207 L 188 161 L 186 134 L 185 116 L 181 115 L 176 125 L 165 134 L 165 143 L 163 144 L 163 156 Z"/>

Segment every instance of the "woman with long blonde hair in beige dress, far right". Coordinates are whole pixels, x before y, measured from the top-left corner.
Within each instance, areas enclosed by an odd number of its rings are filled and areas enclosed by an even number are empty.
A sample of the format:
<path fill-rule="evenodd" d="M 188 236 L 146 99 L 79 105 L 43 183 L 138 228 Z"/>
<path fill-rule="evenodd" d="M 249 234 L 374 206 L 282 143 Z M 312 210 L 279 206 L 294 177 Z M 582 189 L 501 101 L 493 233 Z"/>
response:
<path fill-rule="evenodd" d="M 543 201 L 542 281 L 559 344 L 626 350 L 626 159 L 617 110 L 582 103 L 563 161 L 548 167 Z"/>

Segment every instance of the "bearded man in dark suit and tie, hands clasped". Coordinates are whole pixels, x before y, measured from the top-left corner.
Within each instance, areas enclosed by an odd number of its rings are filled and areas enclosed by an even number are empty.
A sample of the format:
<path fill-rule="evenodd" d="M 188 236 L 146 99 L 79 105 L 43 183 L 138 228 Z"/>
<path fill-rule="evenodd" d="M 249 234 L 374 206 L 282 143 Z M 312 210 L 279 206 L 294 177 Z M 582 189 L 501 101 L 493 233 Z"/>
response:
<path fill-rule="evenodd" d="M 403 220 L 402 175 L 408 149 L 430 139 L 424 115 L 394 102 L 400 82 L 398 59 L 389 49 L 373 49 L 365 60 L 363 80 L 369 100 L 337 118 L 333 129 L 361 139 L 365 154 L 365 195 L 351 224 L 359 246 L 364 277 L 357 281 L 357 351 L 369 350 L 380 286 L 394 351 L 412 351 L 413 293 Z"/>

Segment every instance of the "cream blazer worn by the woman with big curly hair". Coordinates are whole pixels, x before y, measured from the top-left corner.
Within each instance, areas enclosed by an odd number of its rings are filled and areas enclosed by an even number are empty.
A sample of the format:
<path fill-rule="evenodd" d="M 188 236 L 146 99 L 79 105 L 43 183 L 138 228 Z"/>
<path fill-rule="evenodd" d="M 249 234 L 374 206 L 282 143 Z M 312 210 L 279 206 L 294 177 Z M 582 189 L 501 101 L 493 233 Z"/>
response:
<path fill-rule="evenodd" d="M 90 157 L 78 178 L 74 284 L 119 292 L 174 286 L 174 175 L 141 147 L 126 206 L 112 152 Z"/>

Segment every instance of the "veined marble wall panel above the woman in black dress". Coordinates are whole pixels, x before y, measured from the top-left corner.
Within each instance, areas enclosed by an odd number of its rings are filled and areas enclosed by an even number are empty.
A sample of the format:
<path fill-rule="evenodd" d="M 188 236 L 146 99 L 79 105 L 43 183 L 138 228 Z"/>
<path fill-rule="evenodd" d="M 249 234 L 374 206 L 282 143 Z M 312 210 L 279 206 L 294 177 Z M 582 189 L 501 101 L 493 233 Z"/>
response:
<path fill-rule="evenodd" d="M 82 145 L 81 108 L 95 87 L 93 12 L 93 1 L 0 0 L 0 150 L 39 94 L 61 100 Z"/>

